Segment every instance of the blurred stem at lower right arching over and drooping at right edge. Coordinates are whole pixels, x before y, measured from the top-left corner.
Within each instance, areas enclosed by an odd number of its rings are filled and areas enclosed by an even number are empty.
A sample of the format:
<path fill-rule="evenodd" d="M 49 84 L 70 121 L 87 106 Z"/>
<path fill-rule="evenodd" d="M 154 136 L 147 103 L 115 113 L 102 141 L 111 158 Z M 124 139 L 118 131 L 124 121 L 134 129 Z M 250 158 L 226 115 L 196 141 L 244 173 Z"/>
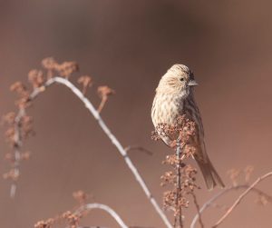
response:
<path fill-rule="evenodd" d="M 199 215 L 204 213 L 204 211 L 209 208 L 209 206 L 211 206 L 214 202 L 216 202 L 220 197 L 222 197 L 223 195 L 225 195 L 226 193 L 232 192 L 232 191 L 237 191 L 239 189 L 248 189 L 250 186 L 248 184 L 243 184 L 243 185 L 238 185 L 238 186 L 231 186 L 228 188 L 225 188 L 224 190 L 222 190 L 221 192 L 217 193 L 216 195 L 214 195 L 212 198 L 209 199 L 209 201 L 207 201 L 206 203 L 204 203 L 202 205 L 202 207 L 199 209 L 199 213 L 197 213 L 192 222 L 190 223 L 190 228 L 195 228 L 196 223 L 199 220 Z M 272 196 L 268 195 L 267 193 L 262 192 L 261 190 L 257 189 L 257 188 L 252 188 L 251 189 L 252 192 L 257 193 L 259 195 L 264 195 L 269 202 L 272 203 Z"/>

